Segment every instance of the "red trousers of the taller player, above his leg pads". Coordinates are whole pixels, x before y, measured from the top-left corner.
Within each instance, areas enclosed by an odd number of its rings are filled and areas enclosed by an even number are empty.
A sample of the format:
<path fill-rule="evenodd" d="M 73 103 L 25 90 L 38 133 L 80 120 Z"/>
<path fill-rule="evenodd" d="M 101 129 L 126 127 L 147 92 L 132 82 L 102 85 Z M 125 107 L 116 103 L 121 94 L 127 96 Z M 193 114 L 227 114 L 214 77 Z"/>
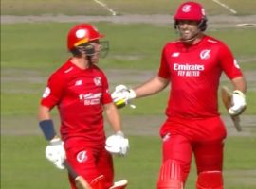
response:
<path fill-rule="evenodd" d="M 162 163 L 171 160 L 180 167 L 186 182 L 194 155 L 197 172 L 222 171 L 224 139 L 227 131 L 219 116 L 204 119 L 169 118 L 160 130 Z"/>

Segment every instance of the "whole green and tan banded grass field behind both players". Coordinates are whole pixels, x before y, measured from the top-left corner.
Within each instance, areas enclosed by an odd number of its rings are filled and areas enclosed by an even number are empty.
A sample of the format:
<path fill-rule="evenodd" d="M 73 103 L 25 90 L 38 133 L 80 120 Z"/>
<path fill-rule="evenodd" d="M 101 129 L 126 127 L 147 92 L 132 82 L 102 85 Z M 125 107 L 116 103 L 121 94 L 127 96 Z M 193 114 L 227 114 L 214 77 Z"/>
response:
<path fill-rule="evenodd" d="M 149 0 L 143 1 L 109 0 L 103 1 L 119 14 L 172 14 L 181 1 Z M 210 15 L 230 12 L 209 0 L 206 4 Z M 232 9 L 239 10 L 239 16 L 255 14 L 256 2 L 244 0 L 223 0 Z M 93 0 L 33 0 L 1 1 L 1 14 L 9 15 L 108 15 Z M 46 141 L 42 136 L 37 120 L 37 107 L 46 86 L 46 78 L 58 68 L 69 54 L 65 48 L 65 36 L 75 23 L 38 22 L 24 24 L 1 24 L 1 188 L 3 189 L 56 189 L 68 188 L 65 171 L 59 171 L 45 158 Z M 106 72 L 113 69 L 119 75 L 156 72 L 161 48 L 167 41 L 177 36 L 173 26 L 150 24 L 114 24 L 99 22 L 95 24 L 110 41 L 110 52 L 100 66 Z M 256 188 L 256 56 L 255 27 L 213 28 L 208 34 L 229 44 L 237 60 L 245 71 L 248 82 L 247 111 L 245 112 L 245 132 L 230 134 L 225 148 L 224 176 L 226 189 Z M 110 76 L 111 77 L 111 76 Z M 125 84 L 134 86 L 139 79 L 122 78 Z M 110 87 L 114 88 L 119 80 L 111 77 Z M 227 79 L 222 84 L 229 85 Z M 122 117 L 137 119 L 163 114 L 168 93 L 164 91 L 155 96 L 136 101 L 136 111 L 121 110 Z M 227 114 L 221 106 L 221 112 Z M 57 125 L 57 112 L 53 112 Z M 254 117 L 254 119 L 253 119 Z M 125 129 L 146 132 L 144 126 L 125 124 Z M 161 161 L 161 142 L 155 133 L 137 134 L 128 132 L 131 149 L 125 158 L 115 157 L 117 180 L 126 178 L 131 189 L 153 189 L 157 180 Z M 106 126 L 108 127 L 108 126 Z M 141 127 L 141 129 L 139 129 Z M 109 129 L 107 129 L 110 131 Z M 125 130 L 124 130 L 125 131 Z M 194 188 L 196 170 L 192 172 L 186 188 Z"/>

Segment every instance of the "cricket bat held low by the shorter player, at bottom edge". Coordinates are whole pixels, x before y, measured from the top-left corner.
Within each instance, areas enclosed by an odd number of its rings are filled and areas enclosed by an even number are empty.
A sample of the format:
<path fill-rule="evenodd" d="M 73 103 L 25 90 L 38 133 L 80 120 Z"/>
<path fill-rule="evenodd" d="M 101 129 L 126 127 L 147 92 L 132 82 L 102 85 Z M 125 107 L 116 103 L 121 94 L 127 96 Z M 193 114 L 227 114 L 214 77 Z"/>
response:
<path fill-rule="evenodd" d="M 69 175 L 75 180 L 77 189 L 92 189 L 88 182 L 84 180 L 82 176 L 78 175 L 66 160 L 64 160 L 64 167 L 67 169 Z"/>

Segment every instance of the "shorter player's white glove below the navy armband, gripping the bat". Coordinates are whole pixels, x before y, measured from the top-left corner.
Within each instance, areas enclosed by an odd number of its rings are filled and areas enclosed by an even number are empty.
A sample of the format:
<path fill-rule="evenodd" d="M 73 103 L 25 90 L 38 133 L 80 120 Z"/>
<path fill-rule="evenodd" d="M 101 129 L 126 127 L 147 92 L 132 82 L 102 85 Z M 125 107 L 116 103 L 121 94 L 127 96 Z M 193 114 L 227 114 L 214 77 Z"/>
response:
<path fill-rule="evenodd" d="M 64 142 L 61 139 L 52 139 L 50 145 L 46 146 L 46 159 L 54 163 L 59 169 L 64 169 Z"/>

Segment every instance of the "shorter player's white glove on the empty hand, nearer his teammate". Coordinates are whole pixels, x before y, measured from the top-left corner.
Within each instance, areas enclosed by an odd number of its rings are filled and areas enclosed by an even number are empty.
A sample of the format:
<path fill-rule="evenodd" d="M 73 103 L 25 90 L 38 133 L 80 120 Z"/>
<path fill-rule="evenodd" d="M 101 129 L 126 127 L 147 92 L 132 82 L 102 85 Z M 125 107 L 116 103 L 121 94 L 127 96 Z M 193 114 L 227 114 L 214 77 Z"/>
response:
<path fill-rule="evenodd" d="M 129 140 L 123 137 L 123 133 L 121 131 L 107 137 L 105 149 L 108 152 L 124 156 L 127 154 L 128 148 Z"/>

